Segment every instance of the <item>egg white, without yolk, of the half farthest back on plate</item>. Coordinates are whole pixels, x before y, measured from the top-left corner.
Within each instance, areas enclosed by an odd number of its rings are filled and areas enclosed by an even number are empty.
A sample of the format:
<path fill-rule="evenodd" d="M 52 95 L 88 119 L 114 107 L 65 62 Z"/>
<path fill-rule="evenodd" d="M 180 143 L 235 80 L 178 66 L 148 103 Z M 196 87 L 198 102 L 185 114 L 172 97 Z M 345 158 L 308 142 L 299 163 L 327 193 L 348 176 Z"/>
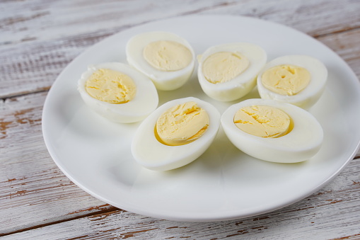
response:
<path fill-rule="evenodd" d="M 183 69 L 171 72 L 161 71 L 152 67 L 148 62 L 146 62 L 146 59 L 144 59 L 144 47 L 151 42 L 159 40 L 178 42 L 187 47 L 192 54 L 192 61 L 190 64 Z M 194 50 L 192 50 L 192 47 L 187 40 L 173 33 L 149 32 L 135 35 L 127 42 L 126 54 L 127 62 L 129 62 L 132 67 L 139 70 L 139 72 L 148 76 L 158 90 L 169 91 L 180 88 L 180 86 L 184 85 L 186 81 L 190 79 L 190 76 L 194 71 Z"/>

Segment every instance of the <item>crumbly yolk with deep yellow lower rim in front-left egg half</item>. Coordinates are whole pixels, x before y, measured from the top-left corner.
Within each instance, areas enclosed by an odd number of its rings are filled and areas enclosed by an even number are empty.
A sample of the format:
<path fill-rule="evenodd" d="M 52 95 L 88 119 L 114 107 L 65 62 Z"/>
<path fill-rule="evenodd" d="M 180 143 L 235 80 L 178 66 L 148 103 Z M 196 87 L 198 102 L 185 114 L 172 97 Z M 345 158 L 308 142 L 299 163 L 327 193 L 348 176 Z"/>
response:
<path fill-rule="evenodd" d="M 207 111 L 190 101 L 166 110 L 156 122 L 155 135 L 163 144 L 179 146 L 199 139 L 207 127 Z"/>

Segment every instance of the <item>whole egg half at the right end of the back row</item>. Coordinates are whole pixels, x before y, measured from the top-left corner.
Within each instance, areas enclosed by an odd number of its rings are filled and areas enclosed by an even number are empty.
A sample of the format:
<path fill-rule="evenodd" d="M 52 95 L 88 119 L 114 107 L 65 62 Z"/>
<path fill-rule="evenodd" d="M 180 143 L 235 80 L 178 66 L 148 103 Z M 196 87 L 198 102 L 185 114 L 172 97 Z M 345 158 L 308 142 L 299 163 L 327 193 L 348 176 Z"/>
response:
<path fill-rule="evenodd" d="M 277 57 L 257 76 L 261 98 L 291 103 L 308 109 L 323 94 L 327 69 L 318 59 L 306 55 Z"/>

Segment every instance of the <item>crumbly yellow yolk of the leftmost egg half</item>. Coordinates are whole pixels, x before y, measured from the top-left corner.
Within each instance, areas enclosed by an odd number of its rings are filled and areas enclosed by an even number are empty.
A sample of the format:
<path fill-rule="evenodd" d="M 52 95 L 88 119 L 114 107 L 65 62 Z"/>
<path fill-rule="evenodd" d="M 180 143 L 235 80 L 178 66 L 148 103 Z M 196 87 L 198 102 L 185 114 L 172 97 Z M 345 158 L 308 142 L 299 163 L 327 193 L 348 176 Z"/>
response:
<path fill-rule="evenodd" d="M 136 93 L 134 80 L 112 69 L 98 69 L 85 83 L 86 92 L 99 101 L 107 103 L 127 103 Z"/>

